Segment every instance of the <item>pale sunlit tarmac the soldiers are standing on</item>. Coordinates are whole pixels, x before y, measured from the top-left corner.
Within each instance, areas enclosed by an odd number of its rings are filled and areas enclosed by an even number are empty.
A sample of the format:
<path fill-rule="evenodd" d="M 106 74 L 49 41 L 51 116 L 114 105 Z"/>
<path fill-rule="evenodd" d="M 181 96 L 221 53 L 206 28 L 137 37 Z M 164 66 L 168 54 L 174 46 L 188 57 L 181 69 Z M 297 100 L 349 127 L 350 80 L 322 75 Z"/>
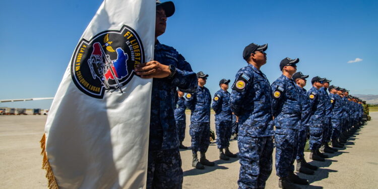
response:
<path fill-rule="evenodd" d="M 190 115 L 186 115 L 187 126 Z M 307 162 L 320 167 L 314 175 L 298 173 L 307 178 L 310 185 L 302 188 L 378 188 L 378 112 L 370 113 L 368 121 L 352 136 L 346 146 L 325 162 Z M 0 115 L 0 188 L 46 188 L 45 171 L 41 169 L 39 140 L 44 132 L 45 115 Z M 215 131 L 214 115 L 211 128 Z M 186 128 L 185 146 L 191 145 Z M 230 142 L 230 151 L 236 153 L 237 141 Z M 192 151 L 182 150 L 183 188 L 237 188 L 239 176 L 238 158 L 219 160 L 216 144 L 211 144 L 207 158 L 215 161 L 214 167 L 204 170 L 192 167 Z M 266 188 L 278 188 L 273 152 L 273 171 Z"/>

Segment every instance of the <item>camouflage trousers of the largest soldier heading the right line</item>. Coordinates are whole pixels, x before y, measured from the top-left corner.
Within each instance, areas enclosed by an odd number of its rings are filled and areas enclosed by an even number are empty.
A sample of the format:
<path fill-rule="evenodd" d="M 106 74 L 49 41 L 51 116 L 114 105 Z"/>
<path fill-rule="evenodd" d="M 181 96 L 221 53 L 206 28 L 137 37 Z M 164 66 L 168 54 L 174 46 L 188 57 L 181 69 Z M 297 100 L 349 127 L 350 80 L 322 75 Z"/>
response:
<path fill-rule="evenodd" d="M 238 136 L 240 172 L 239 189 L 265 188 L 272 173 L 272 137 Z"/>

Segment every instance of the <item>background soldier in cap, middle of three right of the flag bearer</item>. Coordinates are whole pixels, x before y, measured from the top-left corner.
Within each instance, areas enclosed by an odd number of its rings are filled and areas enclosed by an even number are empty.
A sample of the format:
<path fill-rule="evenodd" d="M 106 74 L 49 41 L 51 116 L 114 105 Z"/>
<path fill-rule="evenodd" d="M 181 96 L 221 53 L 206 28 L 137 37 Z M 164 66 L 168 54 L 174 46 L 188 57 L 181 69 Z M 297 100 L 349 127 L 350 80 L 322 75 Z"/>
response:
<path fill-rule="evenodd" d="M 206 159 L 206 151 L 210 145 L 210 103 L 211 94 L 206 84 L 207 77 L 203 72 L 197 73 L 198 87 L 195 93 L 186 94 L 185 106 L 192 110 L 189 134 L 192 137 L 192 166 L 204 169 L 204 165 L 214 166 L 214 162 Z M 200 151 L 200 161 L 197 152 Z"/>

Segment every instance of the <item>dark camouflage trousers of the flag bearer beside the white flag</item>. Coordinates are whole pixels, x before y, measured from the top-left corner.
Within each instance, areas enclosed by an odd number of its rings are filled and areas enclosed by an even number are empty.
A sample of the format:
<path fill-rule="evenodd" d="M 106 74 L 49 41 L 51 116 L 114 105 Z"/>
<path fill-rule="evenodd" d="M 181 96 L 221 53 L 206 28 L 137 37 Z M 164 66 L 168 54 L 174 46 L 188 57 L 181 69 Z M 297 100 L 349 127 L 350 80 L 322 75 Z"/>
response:
<path fill-rule="evenodd" d="M 179 189 L 182 188 L 182 178 L 178 148 L 148 152 L 147 189 Z"/>

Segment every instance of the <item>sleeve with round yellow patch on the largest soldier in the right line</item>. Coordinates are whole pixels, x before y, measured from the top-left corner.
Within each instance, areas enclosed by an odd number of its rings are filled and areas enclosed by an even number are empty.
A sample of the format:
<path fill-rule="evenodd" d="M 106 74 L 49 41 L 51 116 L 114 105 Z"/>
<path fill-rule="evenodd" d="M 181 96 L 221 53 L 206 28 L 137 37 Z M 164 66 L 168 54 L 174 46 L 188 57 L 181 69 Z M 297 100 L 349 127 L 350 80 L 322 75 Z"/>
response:
<path fill-rule="evenodd" d="M 237 74 L 236 74 L 236 77 L 235 77 L 235 82 L 234 84 L 232 85 L 232 92 L 231 92 L 231 95 L 230 95 L 230 108 L 231 108 L 231 111 L 234 112 L 234 114 L 236 116 L 239 116 L 241 111 L 242 111 L 242 107 L 243 107 L 243 103 L 245 101 L 245 97 L 248 95 L 247 94 L 247 90 L 246 89 L 249 89 L 248 92 L 249 92 L 249 95 L 255 95 L 255 90 L 253 88 L 253 76 L 246 73 L 245 71 L 242 72 L 242 71 L 239 71 Z M 250 94 L 250 93 L 253 93 L 253 94 Z"/>

